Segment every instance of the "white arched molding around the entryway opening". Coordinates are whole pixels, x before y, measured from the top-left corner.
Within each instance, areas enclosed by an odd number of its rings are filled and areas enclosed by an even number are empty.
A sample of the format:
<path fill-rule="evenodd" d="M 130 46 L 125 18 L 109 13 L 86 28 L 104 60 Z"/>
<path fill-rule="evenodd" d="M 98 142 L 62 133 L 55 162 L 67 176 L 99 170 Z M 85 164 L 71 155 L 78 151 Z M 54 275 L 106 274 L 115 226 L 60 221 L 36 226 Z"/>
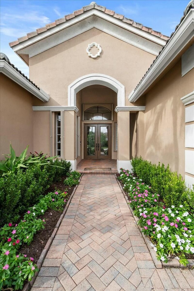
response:
<path fill-rule="evenodd" d="M 125 106 L 125 87 L 118 80 L 104 74 L 89 74 L 68 86 L 68 106 L 76 106 L 76 94 L 90 85 L 103 85 L 117 93 L 117 105 Z"/>

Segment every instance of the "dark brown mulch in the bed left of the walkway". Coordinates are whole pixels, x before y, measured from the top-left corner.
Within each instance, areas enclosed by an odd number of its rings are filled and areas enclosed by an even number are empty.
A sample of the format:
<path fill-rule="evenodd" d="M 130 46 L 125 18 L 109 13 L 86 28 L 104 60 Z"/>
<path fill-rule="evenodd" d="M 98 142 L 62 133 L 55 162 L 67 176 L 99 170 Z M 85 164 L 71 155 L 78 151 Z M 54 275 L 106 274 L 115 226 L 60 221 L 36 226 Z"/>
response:
<path fill-rule="evenodd" d="M 63 181 L 66 177 L 62 178 L 61 182 L 53 183 L 49 189 L 44 194 L 49 192 L 55 192 L 56 190 L 60 191 L 67 191 L 68 196 L 67 199 L 71 196 L 75 186 L 68 187 L 63 184 Z M 65 206 L 64 206 L 65 208 Z M 47 209 L 44 215 L 39 216 L 41 219 L 45 219 L 45 228 L 38 231 L 33 238 L 32 243 L 27 246 L 25 243 L 21 246 L 19 253 L 23 253 L 28 257 L 34 258 L 34 263 L 37 263 L 42 250 L 44 249 L 49 237 L 52 235 L 52 232 L 57 224 L 59 217 L 61 216 L 62 212 L 55 211 L 53 209 Z"/>

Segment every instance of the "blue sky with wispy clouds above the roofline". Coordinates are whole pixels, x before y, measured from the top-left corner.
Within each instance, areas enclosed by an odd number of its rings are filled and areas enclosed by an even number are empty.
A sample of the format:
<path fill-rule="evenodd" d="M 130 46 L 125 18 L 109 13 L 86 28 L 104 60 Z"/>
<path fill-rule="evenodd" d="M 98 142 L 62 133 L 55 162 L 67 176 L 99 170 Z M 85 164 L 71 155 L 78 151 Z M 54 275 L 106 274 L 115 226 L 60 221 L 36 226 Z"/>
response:
<path fill-rule="evenodd" d="M 28 67 L 9 47 L 9 42 L 55 19 L 89 5 L 92 0 L 0 0 L 0 49 L 25 75 Z M 96 0 L 97 4 L 169 35 L 180 22 L 189 0 Z"/>

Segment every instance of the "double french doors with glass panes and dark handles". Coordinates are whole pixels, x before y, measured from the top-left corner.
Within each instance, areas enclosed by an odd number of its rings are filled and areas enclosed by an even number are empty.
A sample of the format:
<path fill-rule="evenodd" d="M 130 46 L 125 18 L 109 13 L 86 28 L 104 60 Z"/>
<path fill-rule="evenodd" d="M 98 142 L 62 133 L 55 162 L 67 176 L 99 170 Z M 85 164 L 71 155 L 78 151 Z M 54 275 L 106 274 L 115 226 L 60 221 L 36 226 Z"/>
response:
<path fill-rule="evenodd" d="M 85 124 L 84 157 L 111 159 L 111 124 Z"/>

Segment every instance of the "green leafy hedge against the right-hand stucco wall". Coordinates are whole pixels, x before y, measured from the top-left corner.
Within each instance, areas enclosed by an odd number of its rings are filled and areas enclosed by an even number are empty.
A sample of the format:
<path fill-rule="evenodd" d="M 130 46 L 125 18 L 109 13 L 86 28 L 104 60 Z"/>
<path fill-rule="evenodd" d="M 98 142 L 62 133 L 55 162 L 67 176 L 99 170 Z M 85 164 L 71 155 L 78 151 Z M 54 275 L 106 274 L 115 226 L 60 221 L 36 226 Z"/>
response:
<path fill-rule="evenodd" d="M 171 172 L 169 165 L 165 168 L 164 164 L 158 163 L 156 166 L 140 156 L 132 159 L 132 167 L 139 179 L 160 195 L 166 206 L 182 204 L 188 211 L 194 209 L 194 191 L 186 188 L 182 176 Z"/>

